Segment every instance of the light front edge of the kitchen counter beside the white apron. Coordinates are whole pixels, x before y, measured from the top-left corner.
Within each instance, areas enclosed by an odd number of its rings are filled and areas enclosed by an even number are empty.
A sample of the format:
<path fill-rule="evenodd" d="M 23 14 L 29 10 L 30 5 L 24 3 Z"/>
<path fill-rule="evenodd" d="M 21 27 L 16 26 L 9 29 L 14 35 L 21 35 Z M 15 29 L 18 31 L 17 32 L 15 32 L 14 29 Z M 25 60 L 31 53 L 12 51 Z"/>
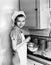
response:
<path fill-rule="evenodd" d="M 30 54 L 28 54 L 28 58 L 30 60 L 39 62 L 39 63 L 44 64 L 44 65 L 51 65 L 51 60 L 50 61 L 49 60 L 45 60 L 45 59 L 42 59 L 42 58 L 34 56 L 34 55 L 30 55 Z"/>

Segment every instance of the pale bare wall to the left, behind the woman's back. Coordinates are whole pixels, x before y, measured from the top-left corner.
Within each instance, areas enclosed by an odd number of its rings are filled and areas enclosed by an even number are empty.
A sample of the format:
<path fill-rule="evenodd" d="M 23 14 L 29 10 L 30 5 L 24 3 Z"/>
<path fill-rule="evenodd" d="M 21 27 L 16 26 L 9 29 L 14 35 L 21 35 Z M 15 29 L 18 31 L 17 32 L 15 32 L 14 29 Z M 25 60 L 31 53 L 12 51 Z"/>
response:
<path fill-rule="evenodd" d="M 0 65 L 12 65 L 9 34 L 13 23 L 12 13 L 19 10 L 18 5 L 18 0 L 0 0 Z"/>

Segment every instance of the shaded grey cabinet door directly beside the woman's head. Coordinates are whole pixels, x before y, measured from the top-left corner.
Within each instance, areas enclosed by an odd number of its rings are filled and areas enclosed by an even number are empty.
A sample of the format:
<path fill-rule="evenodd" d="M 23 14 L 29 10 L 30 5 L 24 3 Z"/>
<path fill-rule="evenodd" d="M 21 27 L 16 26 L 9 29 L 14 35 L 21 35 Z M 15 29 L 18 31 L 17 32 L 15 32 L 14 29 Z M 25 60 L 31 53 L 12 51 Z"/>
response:
<path fill-rule="evenodd" d="M 23 10 L 26 14 L 26 24 L 27 27 L 36 28 L 36 11 L 35 11 L 35 1 L 36 0 L 20 0 L 20 10 Z"/>

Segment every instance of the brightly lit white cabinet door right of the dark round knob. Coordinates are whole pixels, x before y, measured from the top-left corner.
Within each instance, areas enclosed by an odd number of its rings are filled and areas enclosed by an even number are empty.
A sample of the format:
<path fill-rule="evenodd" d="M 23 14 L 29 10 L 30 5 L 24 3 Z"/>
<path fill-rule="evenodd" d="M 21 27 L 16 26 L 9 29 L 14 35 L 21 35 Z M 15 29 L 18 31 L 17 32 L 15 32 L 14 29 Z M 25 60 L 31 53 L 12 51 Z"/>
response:
<path fill-rule="evenodd" d="M 40 0 L 40 29 L 49 28 L 49 0 Z"/>

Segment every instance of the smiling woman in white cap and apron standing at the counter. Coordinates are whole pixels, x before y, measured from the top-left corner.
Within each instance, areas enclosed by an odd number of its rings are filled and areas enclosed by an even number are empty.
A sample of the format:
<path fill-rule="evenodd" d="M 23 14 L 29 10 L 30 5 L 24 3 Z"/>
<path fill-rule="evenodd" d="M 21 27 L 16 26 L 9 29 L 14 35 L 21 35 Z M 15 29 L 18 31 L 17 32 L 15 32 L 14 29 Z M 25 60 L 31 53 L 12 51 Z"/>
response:
<path fill-rule="evenodd" d="M 30 40 L 30 37 L 25 39 L 21 29 L 25 25 L 25 18 L 23 11 L 15 11 L 12 17 L 14 27 L 11 31 L 11 40 L 13 50 L 15 51 L 13 65 L 27 65 L 27 42 Z"/>

